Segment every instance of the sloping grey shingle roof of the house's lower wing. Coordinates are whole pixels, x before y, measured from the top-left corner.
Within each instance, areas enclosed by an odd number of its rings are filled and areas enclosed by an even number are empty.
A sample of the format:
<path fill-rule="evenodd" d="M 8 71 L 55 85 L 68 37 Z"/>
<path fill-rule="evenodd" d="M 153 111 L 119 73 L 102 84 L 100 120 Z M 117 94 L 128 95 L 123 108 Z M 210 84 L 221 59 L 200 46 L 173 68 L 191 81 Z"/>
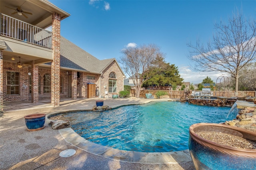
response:
<path fill-rule="evenodd" d="M 60 67 L 100 74 L 113 61 L 116 61 L 116 59 L 99 60 L 66 38 L 60 37 Z M 122 71 L 119 65 L 118 67 Z M 122 74 L 124 75 L 123 71 Z"/>

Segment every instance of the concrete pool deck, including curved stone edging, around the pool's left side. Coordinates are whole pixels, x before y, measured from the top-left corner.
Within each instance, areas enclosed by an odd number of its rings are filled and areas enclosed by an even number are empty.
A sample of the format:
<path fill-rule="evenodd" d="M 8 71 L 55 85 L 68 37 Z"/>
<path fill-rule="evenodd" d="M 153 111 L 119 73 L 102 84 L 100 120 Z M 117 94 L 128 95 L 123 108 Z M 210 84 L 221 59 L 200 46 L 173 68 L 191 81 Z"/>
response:
<path fill-rule="evenodd" d="M 0 169 L 88 169 L 88 170 L 194 170 L 188 150 L 180 152 L 132 152 L 94 144 L 71 128 L 52 130 L 46 119 L 45 128 L 26 130 L 24 116 L 92 109 L 99 99 L 61 99 L 51 107 L 50 99 L 39 103 L 12 102 L 0 117 Z M 104 105 L 142 104 L 152 99 L 100 99 Z M 159 99 L 154 99 L 159 100 Z M 63 158 L 63 150 L 74 149 L 73 156 Z"/>

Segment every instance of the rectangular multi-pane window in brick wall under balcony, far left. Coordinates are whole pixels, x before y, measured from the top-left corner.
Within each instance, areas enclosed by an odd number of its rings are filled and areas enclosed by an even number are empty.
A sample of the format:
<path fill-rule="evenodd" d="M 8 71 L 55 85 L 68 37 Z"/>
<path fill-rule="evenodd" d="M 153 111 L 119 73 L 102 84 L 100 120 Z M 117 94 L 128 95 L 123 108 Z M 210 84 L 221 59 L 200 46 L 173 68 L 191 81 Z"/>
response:
<path fill-rule="evenodd" d="M 6 72 L 6 94 L 18 95 L 20 94 L 20 73 Z"/>

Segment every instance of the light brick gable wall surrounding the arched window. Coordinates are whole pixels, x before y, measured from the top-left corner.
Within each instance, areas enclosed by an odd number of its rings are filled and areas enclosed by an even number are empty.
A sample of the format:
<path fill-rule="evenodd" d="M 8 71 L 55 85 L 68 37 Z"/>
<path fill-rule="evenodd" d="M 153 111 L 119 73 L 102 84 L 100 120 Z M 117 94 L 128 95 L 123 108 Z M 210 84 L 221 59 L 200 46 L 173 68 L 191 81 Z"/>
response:
<path fill-rule="evenodd" d="M 108 91 L 108 77 L 111 72 L 114 72 L 116 74 L 116 83 L 117 83 L 117 89 L 116 93 L 119 93 L 119 91 L 123 90 L 124 87 L 124 75 L 120 71 L 117 63 L 113 61 L 108 67 L 102 71 L 102 76 L 101 76 L 101 89 L 100 89 L 100 95 L 104 96 L 104 86 L 106 86 L 106 91 Z M 108 93 L 108 97 L 112 97 L 113 93 Z"/>

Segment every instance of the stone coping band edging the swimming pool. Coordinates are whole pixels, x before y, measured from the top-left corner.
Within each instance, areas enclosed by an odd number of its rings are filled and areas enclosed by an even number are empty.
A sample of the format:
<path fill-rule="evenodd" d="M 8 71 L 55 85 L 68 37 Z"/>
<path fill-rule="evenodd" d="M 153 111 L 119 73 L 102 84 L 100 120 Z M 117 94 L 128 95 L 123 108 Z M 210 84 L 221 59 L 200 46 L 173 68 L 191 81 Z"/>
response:
<path fill-rule="evenodd" d="M 140 104 L 150 103 L 156 100 L 148 100 L 144 101 Z M 159 100 L 158 100 L 159 101 Z M 173 99 L 162 99 L 161 101 L 177 101 Z M 114 105 L 111 108 L 122 107 L 131 104 L 122 104 L 122 105 Z M 133 105 L 133 104 L 132 104 Z M 138 105 L 138 104 L 135 104 Z M 92 109 L 84 109 L 86 111 L 91 111 Z M 47 115 L 46 122 L 50 122 L 48 116 L 69 112 L 69 111 L 78 111 L 78 109 L 70 109 L 66 111 L 58 111 L 53 112 Z M 82 110 L 79 110 L 82 111 Z M 133 163 L 144 163 L 144 164 L 162 164 L 162 163 L 181 163 L 181 162 L 190 162 L 192 158 L 190 156 L 189 150 L 181 150 L 174 152 L 137 152 L 137 151 L 126 151 L 119 150 L 115 148 L 111 148 L 108 146 L 103 146 L 100 144 L 96 144 L 94 142 L 90 142 L 89 140 L 84 139 L 79 134 L 74 132 L 72 128 L 63 128 L 58 130 L 61 136 L 66 140 L 66 142 L 85 150 L 86 152 L 90 152 L 92 154 L 103 156 L 105 158 L 109 158 L 112 160 L 118 160 L 122 162 L 133 162 Z"/>

